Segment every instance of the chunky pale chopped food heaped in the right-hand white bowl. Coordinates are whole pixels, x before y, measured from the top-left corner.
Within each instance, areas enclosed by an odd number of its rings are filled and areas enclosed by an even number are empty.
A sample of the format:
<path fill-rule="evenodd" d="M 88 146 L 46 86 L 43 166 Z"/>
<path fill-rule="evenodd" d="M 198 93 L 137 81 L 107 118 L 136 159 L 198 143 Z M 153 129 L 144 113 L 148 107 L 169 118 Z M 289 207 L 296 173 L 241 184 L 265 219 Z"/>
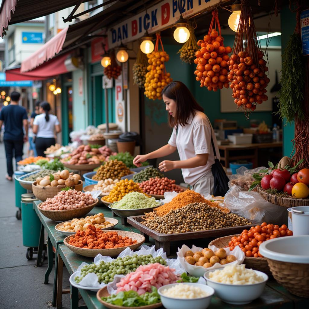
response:
<path fill-rule="evenodd" d="M 209 273 L 209 278 L 213 281 L 227 284 L 255 284 L 264 281 L 262 276 L 258 276 L 252 269 L 246 269 L 244 264 L 227 265 L 223 269 Z"/>

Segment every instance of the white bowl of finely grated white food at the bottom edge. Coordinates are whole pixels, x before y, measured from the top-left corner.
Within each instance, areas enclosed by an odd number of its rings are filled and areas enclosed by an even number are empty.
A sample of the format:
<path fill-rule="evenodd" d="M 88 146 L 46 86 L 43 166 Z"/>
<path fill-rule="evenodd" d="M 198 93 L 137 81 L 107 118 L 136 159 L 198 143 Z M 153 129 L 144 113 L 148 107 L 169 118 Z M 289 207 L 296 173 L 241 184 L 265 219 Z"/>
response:
<path fill-rule="evenodd" d="M 162 294 L 162 290 L 171 288 L 172 286 L 175 286 L 177 284 L 187 284 L 190 286 L 197 286 L 201 290 L 204 290 L 208 295 L 201 298 L 172 298 L 167 297 Z M 165 286 L 161 286 L 158 289 L 158 293 L 161 296 L 161 302 L 166 309 L 206 309 L 210 305 L 210 299 L 211 296 L 214 295 L 214 289 L 210 286 L 206 286 L 204 284 L 199 283 L 172 283 L 167 284 Z"/>

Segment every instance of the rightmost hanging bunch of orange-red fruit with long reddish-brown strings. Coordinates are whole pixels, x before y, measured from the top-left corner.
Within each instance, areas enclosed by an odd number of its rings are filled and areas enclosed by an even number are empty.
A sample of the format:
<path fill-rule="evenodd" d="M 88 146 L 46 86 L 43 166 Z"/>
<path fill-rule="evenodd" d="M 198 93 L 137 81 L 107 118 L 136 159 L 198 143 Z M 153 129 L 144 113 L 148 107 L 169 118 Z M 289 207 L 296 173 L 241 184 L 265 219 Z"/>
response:
<path fill-rule="evenodd" d="M 256 104 L 267 101 L 266 87 L 269 78 L 264 53 L 256 39 L 256 29 L 248 0 L 242 0 L 239 25 L 235 36 L 233 52 L 228 61 L 228 78 L 233 89 L 232 97 L 237 108 L 254 111 Z"/>

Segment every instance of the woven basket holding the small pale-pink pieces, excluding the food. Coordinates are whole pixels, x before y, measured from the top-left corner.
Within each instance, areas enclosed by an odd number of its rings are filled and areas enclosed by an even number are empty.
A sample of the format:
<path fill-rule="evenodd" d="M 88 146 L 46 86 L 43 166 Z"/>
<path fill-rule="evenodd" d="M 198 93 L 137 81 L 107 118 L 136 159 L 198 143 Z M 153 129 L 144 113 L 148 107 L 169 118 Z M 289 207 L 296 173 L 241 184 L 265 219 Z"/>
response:
<path fill-rule="evenodd" d="M 85 214 L 88 214 L 92 210 L 93 207 L 99 202 L 98 199 L 95 200 L 95 202 L 91 205 L 82 207 L 82 208 L 76 208 L 76 209 L 69 209 L 69 210 L 45 210 L 41 209 L 40 203 L 37 205 L 38 210 L 44 214 L 45 217 L 54 220 L 54 221 L 67 221 L 72 220 L 74 218 L 82 218 Z"/>

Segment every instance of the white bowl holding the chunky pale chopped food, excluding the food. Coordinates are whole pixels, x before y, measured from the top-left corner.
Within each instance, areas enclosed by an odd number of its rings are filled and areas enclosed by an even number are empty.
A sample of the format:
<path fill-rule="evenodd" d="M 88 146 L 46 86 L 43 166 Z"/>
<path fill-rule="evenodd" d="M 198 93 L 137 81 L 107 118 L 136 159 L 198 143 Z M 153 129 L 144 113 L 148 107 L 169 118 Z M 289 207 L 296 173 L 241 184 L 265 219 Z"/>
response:
<path fill-rule="evenodd" d="M 215 270 L 221 270 L 218 268 Z M 221 298 L 225 303 L 233 305 L 243 305 L 251 303 L 254 299 L 260 297 L 264 291 L 268 276 L 261 271 L 254 270 L 254 272 L 262 276 L 264 281 L 256 284 L 226 284 L 216 282 L 209 279 L 209 273 L 215 270 L 209 270 L 204 274 L 204 278 L 207 281 L 207 285 L 211 286 L 215 290 L 215 295 Z"/>

